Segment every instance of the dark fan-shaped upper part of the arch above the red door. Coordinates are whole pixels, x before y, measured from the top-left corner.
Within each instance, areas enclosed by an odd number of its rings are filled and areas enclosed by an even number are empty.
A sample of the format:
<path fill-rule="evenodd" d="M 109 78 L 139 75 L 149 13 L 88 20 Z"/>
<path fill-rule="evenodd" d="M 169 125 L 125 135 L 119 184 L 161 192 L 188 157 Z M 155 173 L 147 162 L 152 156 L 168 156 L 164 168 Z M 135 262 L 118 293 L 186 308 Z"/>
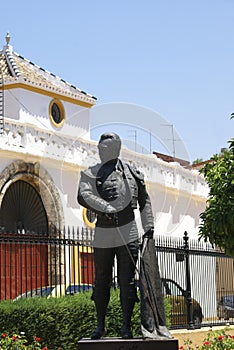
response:
<path fill-rule="evenodd" d="M 0 208 L 0 226 L 4 232 L 47 234 L 48 219 L 39 193 L 22 180 L 7 189 Z"/>

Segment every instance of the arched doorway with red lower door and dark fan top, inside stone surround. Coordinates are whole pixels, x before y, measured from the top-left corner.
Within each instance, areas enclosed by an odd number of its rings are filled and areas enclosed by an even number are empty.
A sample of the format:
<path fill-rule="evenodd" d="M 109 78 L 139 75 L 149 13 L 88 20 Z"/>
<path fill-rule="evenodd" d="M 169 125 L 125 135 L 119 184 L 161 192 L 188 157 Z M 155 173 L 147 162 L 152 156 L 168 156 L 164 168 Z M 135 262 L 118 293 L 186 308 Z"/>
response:
<path fill-rule="evenodd" d="M 48 219 L 37 190 L 13 182 L 0 208 L 0 300 L 48 283 Z"/>

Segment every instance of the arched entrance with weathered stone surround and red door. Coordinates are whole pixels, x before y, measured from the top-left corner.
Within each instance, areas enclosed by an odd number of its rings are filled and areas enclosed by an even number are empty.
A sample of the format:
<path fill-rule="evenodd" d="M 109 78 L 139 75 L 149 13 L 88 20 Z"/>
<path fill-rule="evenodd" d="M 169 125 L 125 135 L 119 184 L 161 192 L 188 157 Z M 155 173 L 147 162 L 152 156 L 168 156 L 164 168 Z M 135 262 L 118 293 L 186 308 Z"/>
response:
<path fill-rule="evenodd" d="M 56 237 L 63 223 L 58 190 L 39 163 L 16 161 L 5 168 L 0 175 L 0 299 L 55 283 L 64 252 L 46 238 Z"/>

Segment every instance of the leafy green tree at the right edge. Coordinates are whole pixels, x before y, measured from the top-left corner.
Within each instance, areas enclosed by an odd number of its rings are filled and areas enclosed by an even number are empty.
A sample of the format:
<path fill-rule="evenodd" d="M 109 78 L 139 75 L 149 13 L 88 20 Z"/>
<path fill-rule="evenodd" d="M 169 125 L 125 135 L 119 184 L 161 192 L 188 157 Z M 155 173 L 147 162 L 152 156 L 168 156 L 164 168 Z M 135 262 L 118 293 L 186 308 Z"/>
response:
<path fill-rule="evenodd" d="M 234 118 L 232 115 L 231 118 Z M 234 258 L 234 138 L 200 170 L 209 185 L 207 207 L 200 215 L 199 237 Z"/>

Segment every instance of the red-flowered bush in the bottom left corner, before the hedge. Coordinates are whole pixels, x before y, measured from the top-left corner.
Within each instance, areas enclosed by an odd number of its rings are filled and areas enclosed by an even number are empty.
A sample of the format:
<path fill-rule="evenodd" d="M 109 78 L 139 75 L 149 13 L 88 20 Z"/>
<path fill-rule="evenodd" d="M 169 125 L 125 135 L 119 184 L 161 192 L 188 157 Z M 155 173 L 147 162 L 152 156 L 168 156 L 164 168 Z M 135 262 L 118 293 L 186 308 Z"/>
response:
<path fill-rule="evenodd" d="M 33 343 L 27 345 L 28 341 L 24 333 L 21 333 L 21 335 L 2 333 L 0 350 L 48 350 L 46 346 L 43 348 L 41 347 L 40 340 L 40 338 L 34 336 Z"/>

